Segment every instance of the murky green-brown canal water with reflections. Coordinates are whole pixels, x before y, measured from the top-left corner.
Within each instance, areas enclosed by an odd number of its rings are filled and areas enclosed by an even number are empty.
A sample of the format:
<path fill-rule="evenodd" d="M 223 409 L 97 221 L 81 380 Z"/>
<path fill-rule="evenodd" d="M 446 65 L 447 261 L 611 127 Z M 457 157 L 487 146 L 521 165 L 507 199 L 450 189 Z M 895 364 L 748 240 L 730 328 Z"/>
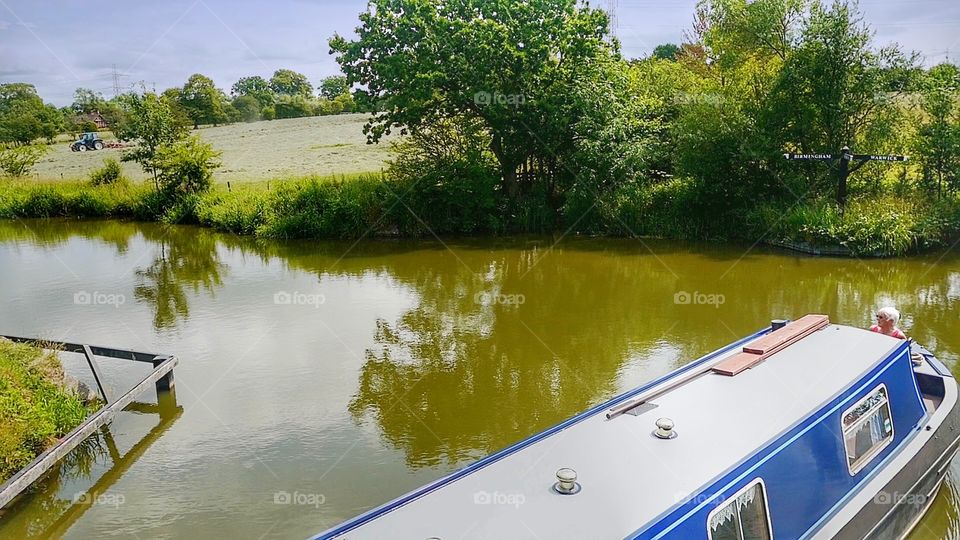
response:
<path fill-rule="evenodd" d="M 652 240 L 281 243 L 3 221 L 0 333 L 181 363 L 175 402 L 145 394 L 6 509 L 0 537 L 306 537 L 770 319 L 866 326 L 884 304 L 960 373 L 960 248 L 859 261 Z M 144 375 L 102 368 L 114 390 Z M 958 538 L 957 479 L 960 462 L 915 538 Z"/>

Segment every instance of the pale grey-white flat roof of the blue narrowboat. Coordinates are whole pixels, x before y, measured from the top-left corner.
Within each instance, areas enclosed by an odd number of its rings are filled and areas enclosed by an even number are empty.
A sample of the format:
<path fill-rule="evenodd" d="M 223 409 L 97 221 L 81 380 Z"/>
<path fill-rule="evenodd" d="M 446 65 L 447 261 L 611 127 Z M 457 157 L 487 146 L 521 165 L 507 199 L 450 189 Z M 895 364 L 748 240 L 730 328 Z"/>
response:
<path fill-rule="evenodd" d="M 829 325 L 736 376 L 696 377 L 639 416 L 588 417 L 339 538 L 623 538 L 816 411 L 900 343 Z M 660 417 L 674 421 L 676 438 L 652 436 Z M 580 493 L 552 491 L 563 467 L 577 472 Z"/>

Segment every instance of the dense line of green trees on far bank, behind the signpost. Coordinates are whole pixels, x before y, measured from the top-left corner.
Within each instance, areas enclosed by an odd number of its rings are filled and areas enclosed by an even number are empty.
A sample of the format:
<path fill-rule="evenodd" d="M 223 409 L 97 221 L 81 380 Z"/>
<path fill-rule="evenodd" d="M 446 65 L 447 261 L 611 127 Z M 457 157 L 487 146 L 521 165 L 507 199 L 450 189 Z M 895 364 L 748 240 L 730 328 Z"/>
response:
<path fill-rule="evenodd" d="M 756 236 L 762 206 L 846 219 L 835 167 L 784 159 L 845 146 L 912 157 L 863 167 L 855 201 L 960 190 L 957 67 L 876 44 L 853 2 L 701 0 L 682 43 L 641 59 L 575 0 L 371 4 L 330 40 L 379 104 L 369 140 L 409 134 L 392 174 L 492 185 L 503 218 L 707 237 Z"/>

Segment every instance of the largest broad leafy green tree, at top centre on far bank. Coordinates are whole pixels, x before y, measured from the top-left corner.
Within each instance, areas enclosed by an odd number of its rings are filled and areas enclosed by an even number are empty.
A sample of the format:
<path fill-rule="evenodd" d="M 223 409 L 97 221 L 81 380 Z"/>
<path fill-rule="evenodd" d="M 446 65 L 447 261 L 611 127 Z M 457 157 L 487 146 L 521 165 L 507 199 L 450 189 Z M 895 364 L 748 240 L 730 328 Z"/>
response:
<path fill-rule="evenodd" d="M 570 99 L 578 73 L 615 53 L 606 13 L 575 0 L 372 0 L 360 22 L 356 39 L 336 35 L 330 47 L 378 104 L 368 140 L 477 120 L 510 194 L 521 164 L 556 168 L 572 149 L 586 108 Z"/>

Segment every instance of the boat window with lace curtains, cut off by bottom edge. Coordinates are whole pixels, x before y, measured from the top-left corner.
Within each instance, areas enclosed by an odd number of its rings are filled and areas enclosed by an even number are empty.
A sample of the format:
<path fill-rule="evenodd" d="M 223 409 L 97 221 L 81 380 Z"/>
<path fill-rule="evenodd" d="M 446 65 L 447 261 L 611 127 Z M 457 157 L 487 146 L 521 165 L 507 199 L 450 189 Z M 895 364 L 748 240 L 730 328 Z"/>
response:
<path fill-rule="evenodd" d="M 770 540 L 770 512 L 763 481 L 757 478 L 710 512 L 707 533 L 710 540 Z"/>

